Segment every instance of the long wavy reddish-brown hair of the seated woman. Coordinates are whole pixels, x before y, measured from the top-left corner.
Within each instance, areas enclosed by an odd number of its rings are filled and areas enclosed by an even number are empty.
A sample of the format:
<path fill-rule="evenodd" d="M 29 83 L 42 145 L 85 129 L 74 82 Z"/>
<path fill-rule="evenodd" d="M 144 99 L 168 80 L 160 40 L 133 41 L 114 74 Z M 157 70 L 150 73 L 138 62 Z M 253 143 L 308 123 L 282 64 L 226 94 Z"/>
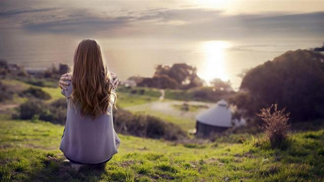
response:
<path fill-rule="evenodd" d="M 73 60 L 71 94 L 72 103 L 80 104 L 81 114 L 92 118 L 108 113 L 113 85 L 106 62 L 103 60 L 99 44 L 95 40 L 85 39 L 75 50 Z M 108 113 L 109 114 L 109 113 Z"/>

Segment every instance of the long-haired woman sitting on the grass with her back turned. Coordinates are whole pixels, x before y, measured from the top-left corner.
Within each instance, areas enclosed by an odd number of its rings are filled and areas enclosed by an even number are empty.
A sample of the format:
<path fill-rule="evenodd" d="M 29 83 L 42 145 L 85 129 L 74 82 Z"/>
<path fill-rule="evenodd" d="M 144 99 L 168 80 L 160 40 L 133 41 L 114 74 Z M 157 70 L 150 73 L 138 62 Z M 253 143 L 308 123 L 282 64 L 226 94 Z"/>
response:
<path fill-rule="evenodd" d="M 73 64 L 72 75 L 64 74 L 59 81 L 68 103 L 59 149 L 74 163 L 105 163 L 118 152 L 120 143 L 112 113 L 116 102 L 112 90 L 118 79 L 109 74 L 95 40 L 81 41 Z"/>

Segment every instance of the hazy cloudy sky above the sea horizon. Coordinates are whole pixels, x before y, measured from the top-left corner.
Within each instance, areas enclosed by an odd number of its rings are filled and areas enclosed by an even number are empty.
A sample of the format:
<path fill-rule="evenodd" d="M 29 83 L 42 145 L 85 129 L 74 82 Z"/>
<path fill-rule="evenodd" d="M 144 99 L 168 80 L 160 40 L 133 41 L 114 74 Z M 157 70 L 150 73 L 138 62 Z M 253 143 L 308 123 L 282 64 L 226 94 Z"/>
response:
<path fill-rule="evenodd" d="M 0 33 L 110 39 L 323 38 L 324 1 L 0 1 Z"/>

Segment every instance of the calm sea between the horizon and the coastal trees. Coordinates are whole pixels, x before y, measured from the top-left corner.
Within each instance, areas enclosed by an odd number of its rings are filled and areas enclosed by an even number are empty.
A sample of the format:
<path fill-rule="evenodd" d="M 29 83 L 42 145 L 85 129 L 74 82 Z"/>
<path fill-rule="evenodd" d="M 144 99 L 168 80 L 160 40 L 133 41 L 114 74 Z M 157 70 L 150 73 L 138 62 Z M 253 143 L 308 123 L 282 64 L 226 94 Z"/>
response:
<path fill-rule="evenodd" d="M 72 65 L 73 53 L 81 38 L 58 35 L 8 34 L 0 36 L 0 58 L 26 69 L 53 64 Z M 289 51 L 320 47 L 323 40 L 154 40 L 96 38 L 108 67 L 120 79 L 151 77 L 158 64 L 187 63 L 198 75 L 230 80 L 238 89 L 242 73 Z"/>

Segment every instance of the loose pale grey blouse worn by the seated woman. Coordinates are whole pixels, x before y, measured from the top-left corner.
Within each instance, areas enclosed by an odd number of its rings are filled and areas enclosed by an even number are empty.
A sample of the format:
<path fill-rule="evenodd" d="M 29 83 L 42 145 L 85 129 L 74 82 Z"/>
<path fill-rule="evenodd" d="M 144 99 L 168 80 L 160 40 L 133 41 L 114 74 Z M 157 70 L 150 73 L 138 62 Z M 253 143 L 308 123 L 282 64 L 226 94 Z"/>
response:
<path fill-rule="evenodd" d="M 64 133 L 59 150 L 68 158 L 82 163 L 100 163 L 118 153 L 120 139 L 114 130 L 112 107 L 108 114 L 102 114 L 92 119 L 91 116 L 81 116 L 80 109 L 70 104 L 72 83 L 68 81 L 67 90 L 61 93 L 67 101 L 67 116 Z"/>

